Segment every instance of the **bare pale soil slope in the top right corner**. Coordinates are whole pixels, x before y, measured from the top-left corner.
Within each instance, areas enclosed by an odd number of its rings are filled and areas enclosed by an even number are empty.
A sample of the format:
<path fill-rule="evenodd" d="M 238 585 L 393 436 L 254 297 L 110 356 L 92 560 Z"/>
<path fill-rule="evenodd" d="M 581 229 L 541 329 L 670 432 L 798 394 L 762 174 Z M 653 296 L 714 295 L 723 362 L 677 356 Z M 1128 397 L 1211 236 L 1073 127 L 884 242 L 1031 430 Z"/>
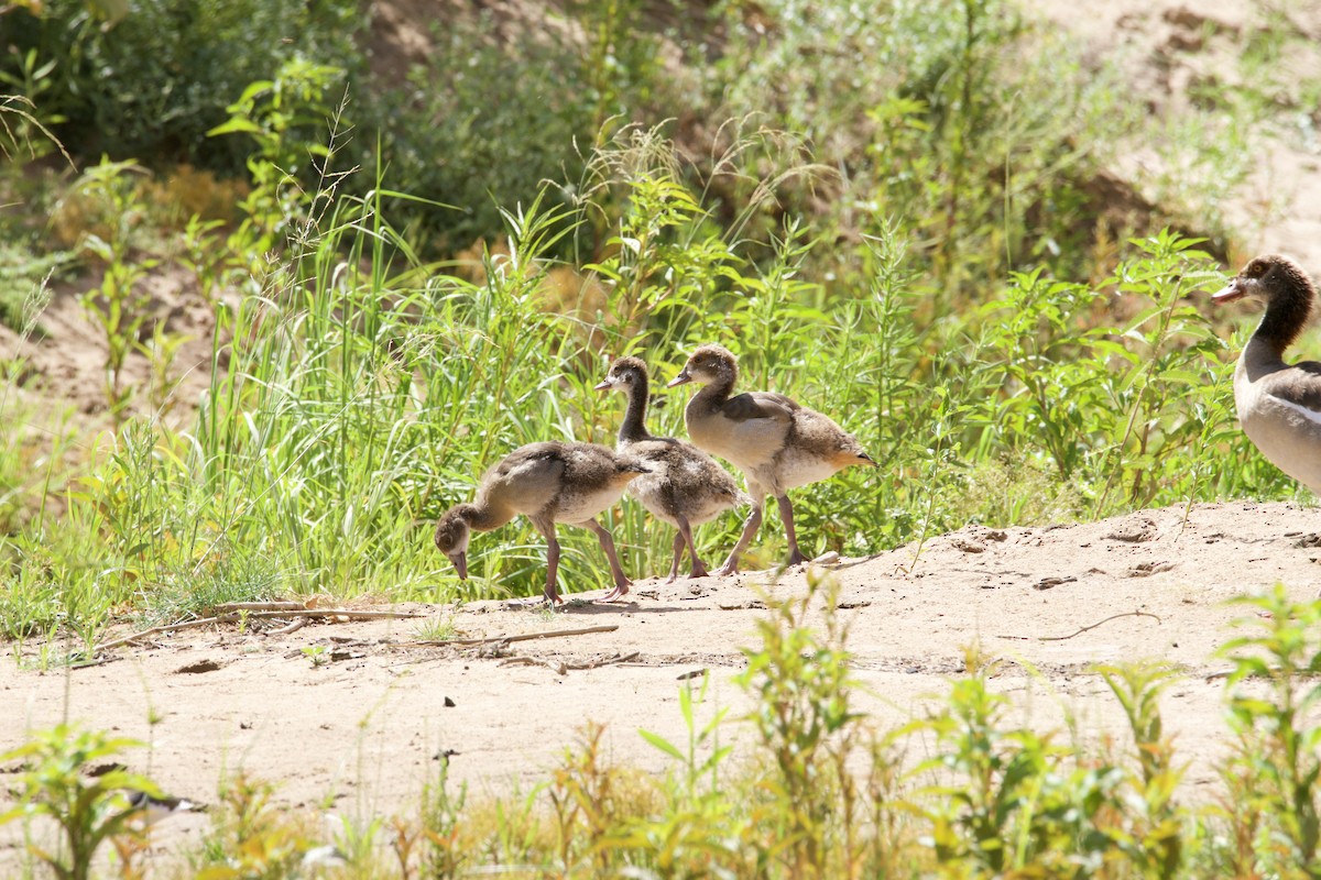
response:
<path fill-rule="evenodd" d="M 1306 88 L 1321 77 L 1321 53 L 1316 50 L 1321 5 L 1024 0 L 1024 7 L 1071 32 L 1083 47 L 1083 65 L 1119 65 L 1129 99 L 1152 116 L 1153 131 L 1194 106 L 1206 107 L 1209 95 L 1230 98 L 1252 90 L 1268 99 L 1273 121 L 1251 123 L 1255 131 L 1236 132 L 1251 154 L 1222 162 L 1242 161 L 1247 168 L 1244 179 L 1215 206 L 1243 248 L 1231 256 L 1236 264 L 1231 268 L 1236 270 L 1256 253 L 1288 253 L 1313 276 L 1321 273 L 1321 144 L 1316 135 L 1321 107 Z M 1251 51 L 1263 55 L 1266 45 L 1276 46 L 1269 63 L 1243 63 Z M 1227 115 L 1222 121 L 1229 123 Z M 1236 140 L 1225 137 L 1227 144 Z M 1166 187 L 1196 185 L 1193 179 L 1180 182 L 1197 172 L 1169 168 L 1162 146 L 1127 144 L 1114 170 L 1139 190 L 1151 189 L 1161 177 L 1173 178 L 1162 185 Z"/>

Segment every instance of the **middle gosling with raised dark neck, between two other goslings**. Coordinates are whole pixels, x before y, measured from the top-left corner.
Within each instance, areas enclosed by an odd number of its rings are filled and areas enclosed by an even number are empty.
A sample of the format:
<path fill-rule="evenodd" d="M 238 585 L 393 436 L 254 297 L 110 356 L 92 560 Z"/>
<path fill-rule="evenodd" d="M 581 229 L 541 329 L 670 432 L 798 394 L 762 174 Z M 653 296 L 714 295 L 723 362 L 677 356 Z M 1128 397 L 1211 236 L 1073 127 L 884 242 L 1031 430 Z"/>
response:
<path fill-rule="evenodd" d="M 629 495 L 678 529 L 674 563 L 666 583 L 679 577 L 684 546 L 692 558 L 690 577 L 704 578 L 709 571 L 697 555 L 692 526 L 713 520 L 732 507 L 748 504 L 750 499 L 738 491 L 738 484 L 725 468 L 692 443 L 647 433 L 647 365 L 641 359 L 620 358 L 596 389 L 613 389 L 629 398 L 629 408 L 620 422 L 618 449 L 637 455 L 651 467 L 650 474 L 629 483 Z"/>

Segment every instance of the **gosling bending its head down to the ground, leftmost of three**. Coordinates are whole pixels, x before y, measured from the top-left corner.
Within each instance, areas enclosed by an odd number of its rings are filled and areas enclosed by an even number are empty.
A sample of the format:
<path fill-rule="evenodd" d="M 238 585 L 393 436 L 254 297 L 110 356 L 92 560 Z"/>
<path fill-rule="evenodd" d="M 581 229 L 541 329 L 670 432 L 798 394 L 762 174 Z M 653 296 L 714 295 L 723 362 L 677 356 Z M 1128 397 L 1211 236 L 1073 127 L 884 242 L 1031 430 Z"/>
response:
<path fill-rule="evenodd" d="M 614 540 L 594 517 L 620 500 L 629 480 L 647 472 L 634 455 L 620 454 L 596 443 L 530 443 L 520 446 L 486 471 L 472 504 L 456 504 L 436 524 L 436 546 L 449 557 L 461 581 L 468 579 L 468 540 L 472 532 L 490 532 L 522 513 L 546 538 L 546 598 L 560 604 L 555 573 L 560 542 L 555 524 L 590 529 L 601 541 L 614 591 L 606 602 L 629 590 Z"/>

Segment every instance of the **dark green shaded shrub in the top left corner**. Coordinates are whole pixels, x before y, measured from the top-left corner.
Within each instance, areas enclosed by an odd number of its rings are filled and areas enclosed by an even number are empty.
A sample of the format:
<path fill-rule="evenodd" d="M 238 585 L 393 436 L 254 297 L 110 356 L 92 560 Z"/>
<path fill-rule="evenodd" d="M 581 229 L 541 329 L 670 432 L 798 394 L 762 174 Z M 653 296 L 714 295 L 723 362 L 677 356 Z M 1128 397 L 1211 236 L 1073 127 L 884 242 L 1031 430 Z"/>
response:
<path fill-rule="evenodd" d="M 206 137 L 225 108 L 296 53 L 355 67 L 362 21 L 351 0 L 20 4 L 4 16 L 15 51 L 0 55 L 0 82 L 24 82 L 34 115 L 79 156 L 236 170 L 246 150 Z"/>

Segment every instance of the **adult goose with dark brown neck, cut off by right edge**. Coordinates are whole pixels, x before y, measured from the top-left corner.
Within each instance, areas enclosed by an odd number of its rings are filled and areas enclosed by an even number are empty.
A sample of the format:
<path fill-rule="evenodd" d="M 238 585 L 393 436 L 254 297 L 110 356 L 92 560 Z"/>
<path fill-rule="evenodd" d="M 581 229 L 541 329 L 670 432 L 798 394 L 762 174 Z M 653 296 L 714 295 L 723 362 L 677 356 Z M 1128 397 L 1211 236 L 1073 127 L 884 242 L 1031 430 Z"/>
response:
<path fill-rule="evenodd" d="M 1321 495 L 1321 363 L 1284 363 L 1312 314 L 1316 288 L 1275 253 L 1248 261 L 1214 302 L 1266 301 L 1266 314 L 1234 369 L 1234 402 L 1248 439 L 1281 471 Z"/>

